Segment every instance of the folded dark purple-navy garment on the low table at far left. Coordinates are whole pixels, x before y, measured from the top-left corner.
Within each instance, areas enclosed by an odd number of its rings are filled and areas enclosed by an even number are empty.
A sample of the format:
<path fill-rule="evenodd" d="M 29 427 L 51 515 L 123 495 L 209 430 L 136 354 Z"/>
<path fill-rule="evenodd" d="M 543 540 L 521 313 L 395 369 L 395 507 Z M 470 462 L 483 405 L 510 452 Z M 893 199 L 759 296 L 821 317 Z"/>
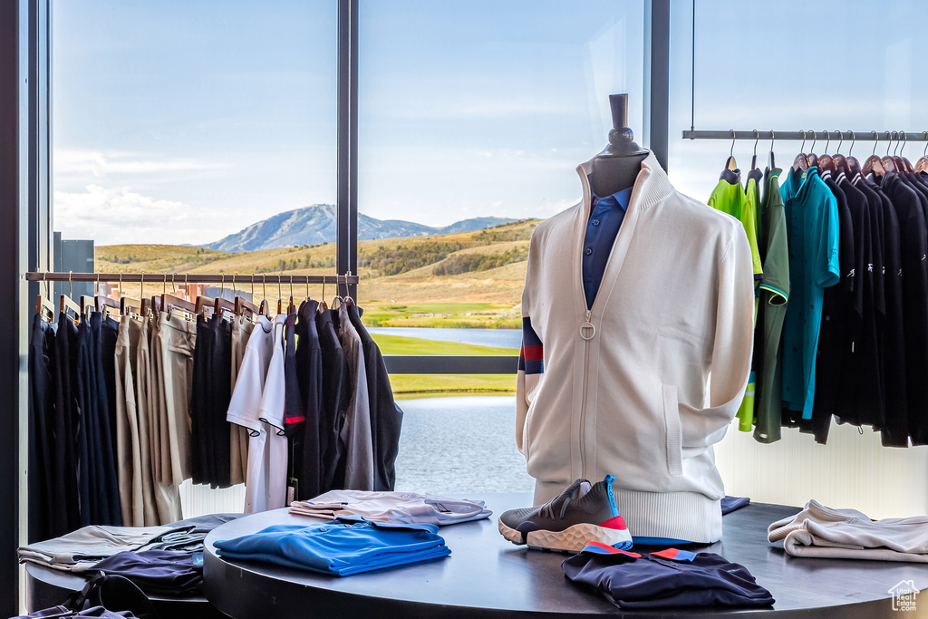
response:
<path fill-rule="evenodd" d="M 86 574 L 118 574 L 148 594 L 189 598 L 203 593 L 202 553 L 143 550 L 120 552 L 98 562 Z"/>

